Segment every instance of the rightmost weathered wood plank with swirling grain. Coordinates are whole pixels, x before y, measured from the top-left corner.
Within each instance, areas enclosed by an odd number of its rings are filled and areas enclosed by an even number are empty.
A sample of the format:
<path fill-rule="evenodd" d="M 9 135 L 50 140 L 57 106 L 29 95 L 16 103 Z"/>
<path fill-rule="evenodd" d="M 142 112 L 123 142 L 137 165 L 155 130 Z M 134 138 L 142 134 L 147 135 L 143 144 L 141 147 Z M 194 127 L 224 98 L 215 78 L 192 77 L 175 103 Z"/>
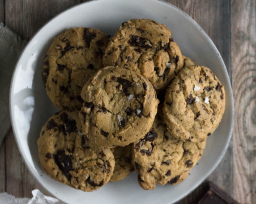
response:
<path fill-rule="evenodd" d="M 231 57 L 235 124 L 234 189 L 240 203 L 256 203 L 256 1 L 231 0 Z"/>

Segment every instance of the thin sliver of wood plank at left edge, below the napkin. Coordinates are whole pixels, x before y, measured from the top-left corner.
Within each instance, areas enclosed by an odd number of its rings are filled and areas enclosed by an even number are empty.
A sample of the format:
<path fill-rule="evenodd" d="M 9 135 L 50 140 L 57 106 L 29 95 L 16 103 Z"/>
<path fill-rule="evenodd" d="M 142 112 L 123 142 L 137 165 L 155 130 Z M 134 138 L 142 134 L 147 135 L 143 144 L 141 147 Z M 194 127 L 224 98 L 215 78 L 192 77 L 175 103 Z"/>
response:
<path fill-rule="evenodd" d="M 0 146 L 0 192 L 5 192 L 5 140 Z"/>

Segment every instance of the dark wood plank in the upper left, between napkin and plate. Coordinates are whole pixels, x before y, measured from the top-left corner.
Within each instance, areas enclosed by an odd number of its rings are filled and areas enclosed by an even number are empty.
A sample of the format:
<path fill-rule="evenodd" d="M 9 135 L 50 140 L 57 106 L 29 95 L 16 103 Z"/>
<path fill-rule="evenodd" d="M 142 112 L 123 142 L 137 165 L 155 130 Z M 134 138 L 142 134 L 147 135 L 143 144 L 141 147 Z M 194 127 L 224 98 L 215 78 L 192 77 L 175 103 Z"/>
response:
<path fill-rule="evenodd" d="M 30 39 L 48 20 L 80 0 L 5 0 L 5 22 L 9 29 Z"/>

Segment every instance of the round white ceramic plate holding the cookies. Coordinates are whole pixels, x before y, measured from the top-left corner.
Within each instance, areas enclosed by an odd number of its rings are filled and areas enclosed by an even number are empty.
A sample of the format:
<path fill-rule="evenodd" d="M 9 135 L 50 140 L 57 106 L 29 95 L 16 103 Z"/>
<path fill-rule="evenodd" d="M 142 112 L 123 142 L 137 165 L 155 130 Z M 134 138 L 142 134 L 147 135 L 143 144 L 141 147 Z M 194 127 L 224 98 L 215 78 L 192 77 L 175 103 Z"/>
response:
<path fill-rule="evenodd" d="M 133 173 L 125 180 L 109 183 L 95 192 L 82 192 L 52 180 L 43 173 L 36 141 L 47 119 L 57 111 L 47 97 L 41 77 L 43 59 L 52 40 L 70 27 L 91 27 L 113 35 L 129 19 L 149 18 L 165 24 L 181 52 L 213 70 L 225 86 L 226 110 L 218 129 L 207 141 L 199 164 L 187 180 L 172 186 L 143 190 Z M 218 165 L 230 141 L 234 105 L 230 80 L 222 57 L 207 34 L 187 14 L 157 0 L 97 0 L 69 8 L 40 29 L 23 50 L 13 73 L 10 90 L 12 125 L 21 155 L 34 177 L 54 196 L 67 203 L 170 204 L 195 189 Z"/>

